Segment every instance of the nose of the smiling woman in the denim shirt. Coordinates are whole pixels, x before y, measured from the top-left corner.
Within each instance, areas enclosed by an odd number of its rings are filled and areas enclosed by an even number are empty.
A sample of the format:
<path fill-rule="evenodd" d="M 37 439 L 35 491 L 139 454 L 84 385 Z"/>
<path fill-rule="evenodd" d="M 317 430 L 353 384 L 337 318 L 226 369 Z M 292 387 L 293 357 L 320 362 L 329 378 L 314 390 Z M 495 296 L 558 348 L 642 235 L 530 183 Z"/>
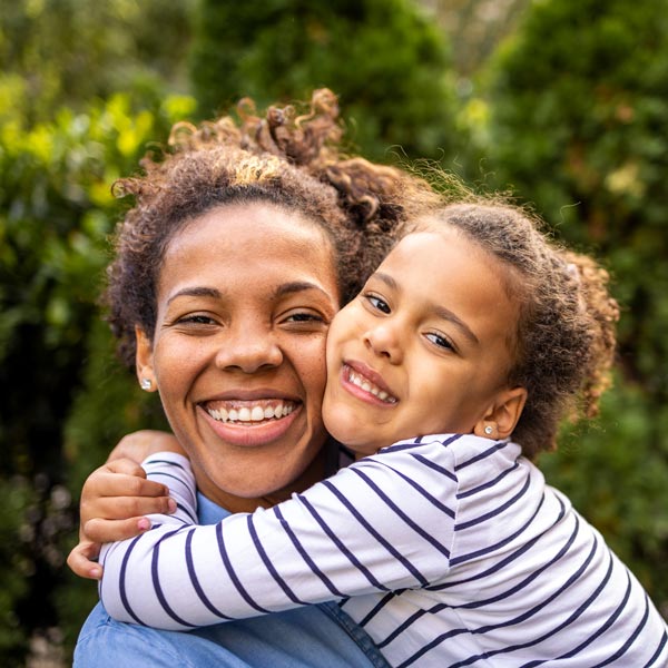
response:
<path fill-rule="evenodd" d="M 248 322 L 229 326 L 216 353 L 218 369 L 244 373 L 278 366 L 281 362 L 283 353 L 272 331 Z"/>

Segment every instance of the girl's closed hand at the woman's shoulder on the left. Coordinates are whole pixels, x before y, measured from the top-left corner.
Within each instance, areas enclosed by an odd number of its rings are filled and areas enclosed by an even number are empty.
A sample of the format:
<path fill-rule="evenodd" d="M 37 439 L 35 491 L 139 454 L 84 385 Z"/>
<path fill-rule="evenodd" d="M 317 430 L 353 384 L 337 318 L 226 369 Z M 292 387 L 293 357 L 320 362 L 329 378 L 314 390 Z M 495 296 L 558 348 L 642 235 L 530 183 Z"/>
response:
<path fill-rule="evenodd" d="M 139 443 L 139 450 L 144 449 L 139 456 L 169 450 L 165 445 L 170 444 L 174 436 L 164 435 L 169 438 L 160 439 L 160 448 L 155 448 L 155 439 Z M 79 544 L 67 559 L 69 568 L 81 578 L 101 578 L 102 568 L 96 559 L 102 542 L 138 536 L 150 528 L 150 521 L 144 515 L 176 510 L 164 484 L 146 480 L 144 469 L 131 459 L 117 459 L 124 441 L 116 446 L 111 461 L 88 477 L 81 491 Z M 148 449 L 145 448 L 147 444 Z M 138 452 L 136 443 L 132 449 L 134 453 Z M 181 452 L 180 449 L 177 452 Z"/>

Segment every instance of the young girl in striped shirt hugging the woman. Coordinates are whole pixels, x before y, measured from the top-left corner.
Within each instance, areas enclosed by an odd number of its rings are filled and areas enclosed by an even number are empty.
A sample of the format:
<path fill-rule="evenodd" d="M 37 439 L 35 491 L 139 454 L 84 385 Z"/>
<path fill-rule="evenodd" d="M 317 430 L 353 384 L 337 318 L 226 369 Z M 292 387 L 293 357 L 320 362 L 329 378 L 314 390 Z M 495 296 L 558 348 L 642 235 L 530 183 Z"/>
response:
<path fill-rule="evenodd" d="M 187 459 L 154 456 L 179 510 L 105 548 L 106 609 L 189 629 L 337 600 L 393 666 L 668 665 L 641 586 L 531 463 L 607 384 L 606 283 L 512 207 L 420 220 L 328 332 L 323 415 L 357 461 L 195 527 Z"/>

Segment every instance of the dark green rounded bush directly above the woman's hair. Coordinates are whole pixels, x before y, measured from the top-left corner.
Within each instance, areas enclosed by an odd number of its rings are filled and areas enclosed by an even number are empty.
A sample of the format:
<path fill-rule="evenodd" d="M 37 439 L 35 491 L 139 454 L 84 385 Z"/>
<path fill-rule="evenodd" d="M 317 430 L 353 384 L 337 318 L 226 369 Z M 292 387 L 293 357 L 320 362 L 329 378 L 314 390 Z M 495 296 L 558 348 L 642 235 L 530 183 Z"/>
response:
<path fill-rule="evenodd" d="M 264 106 L 328 87 L 365 156 L 435 158 L 460 145 L 446 45 L 410 0 L 203 0 L 190 71 L 206 117 L 243 96 Z"/>

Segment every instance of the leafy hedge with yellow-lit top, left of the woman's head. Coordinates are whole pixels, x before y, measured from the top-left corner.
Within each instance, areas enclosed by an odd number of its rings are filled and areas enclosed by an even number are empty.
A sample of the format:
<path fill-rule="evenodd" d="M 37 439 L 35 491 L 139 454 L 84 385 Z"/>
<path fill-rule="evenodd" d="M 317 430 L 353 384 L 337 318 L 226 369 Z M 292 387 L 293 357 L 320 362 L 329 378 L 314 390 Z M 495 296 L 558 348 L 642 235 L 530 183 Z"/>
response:
<path fill-rule="evenodd" d="M 134 109 L 117 95 L 33 127 L 23 127 L 20 104 L 0 110 L 0 384 L 9 390 L 0 503 L 11 509 L 0 517 L 3 666 L 23 665 L 36 629 L 58 626 L 70 641 L 95 598 L 88 582 L 61 589 L 80 484 L 120 434 L 151 423 L 97 307 L 120 216 L 110 184 L 193 110 L 191 98 Z M 86 602 L 68 607 L 75 591 Z"/>

